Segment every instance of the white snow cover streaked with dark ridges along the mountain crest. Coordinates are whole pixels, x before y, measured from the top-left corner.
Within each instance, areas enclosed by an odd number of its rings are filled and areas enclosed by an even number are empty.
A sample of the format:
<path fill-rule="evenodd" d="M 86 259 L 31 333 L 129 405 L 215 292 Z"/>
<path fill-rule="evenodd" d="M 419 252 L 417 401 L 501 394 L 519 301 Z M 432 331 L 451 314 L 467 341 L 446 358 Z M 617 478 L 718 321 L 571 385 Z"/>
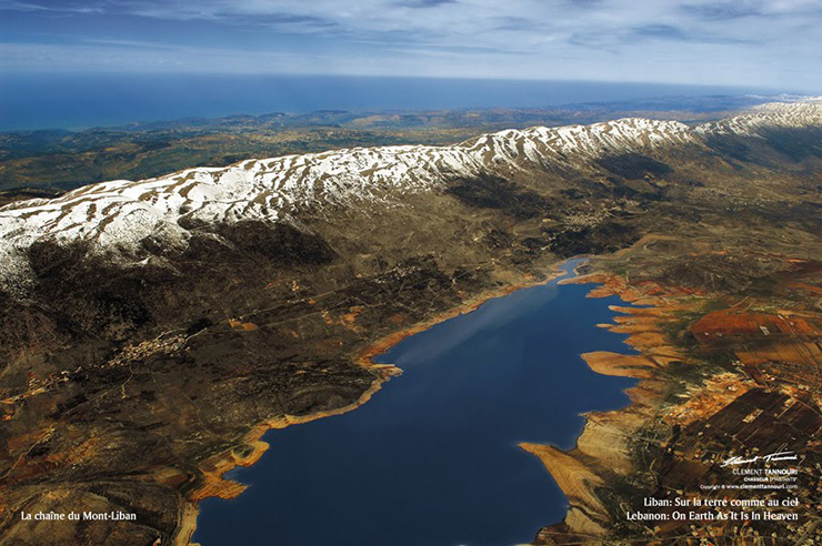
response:
<path fill-rule="evenodd" d="M 114 260 L 139 260 L 149 235 L 184 245 L 186 225 L 241 220 L 290 221 L 317 206 L 397 204 L 454 176 L 550 166 L 573 169 L 612 154 L 653 153 L 711 135 L 755 135 L 764 128 L 822 125 L 822 102 L 772 103 L 695 128 L 621 119 L 591 125 L 537 127 L 485 134 L 451 146 L 383 146 L 248 160 L 166 176 L 88 185 L 52 200 L 0 209 L 0 283 L 29 276 L 26 250 L 38 240 L 87 241 Z"/>

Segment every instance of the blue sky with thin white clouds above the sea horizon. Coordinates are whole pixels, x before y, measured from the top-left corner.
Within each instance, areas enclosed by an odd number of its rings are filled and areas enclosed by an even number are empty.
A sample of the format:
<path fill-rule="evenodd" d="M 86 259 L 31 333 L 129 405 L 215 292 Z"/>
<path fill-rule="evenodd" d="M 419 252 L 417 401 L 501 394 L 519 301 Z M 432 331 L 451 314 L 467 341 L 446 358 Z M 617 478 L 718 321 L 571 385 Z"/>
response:
<path fill-rule="evenodd" d="M 0 0 L 0 70 L 822 89 L 819 0 Z"/>

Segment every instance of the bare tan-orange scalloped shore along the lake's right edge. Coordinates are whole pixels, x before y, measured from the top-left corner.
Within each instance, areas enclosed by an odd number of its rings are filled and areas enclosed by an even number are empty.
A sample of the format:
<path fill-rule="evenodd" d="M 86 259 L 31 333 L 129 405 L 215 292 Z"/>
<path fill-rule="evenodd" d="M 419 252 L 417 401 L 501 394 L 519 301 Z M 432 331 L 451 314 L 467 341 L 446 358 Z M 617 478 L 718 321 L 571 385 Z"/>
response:
<path fill-rule="evenodd" d="M 598 495 L 597 486 L 604 485 L 612 474 L 625 475 L 635 469 L 629 441 L 641 426 L 652 418 L 661 405 L 670 380 L 660 372 L 684 356 L 662 331 L 673 313 L 686 309 L 678 302 L 678 294 L 668 294 L 659 286 L 644 291 L 629 285 L 616 275 L 597 271 L 563 281 L 573 284 L 597 284 L 588 297 L 618 296 L 642 307 L 611 306 L 619 313 L 614 324 L 599 324 L 613 333 L 625 334 L 625 344 L 638 354 L 591 352 L 581 355 L 585 364 L 602 375 L 638 380 L 629 388 L 631 398 L 626 406 L 584 414 L 585 426 L 572 449 L 563 451 L 550 445 L 525 445 L 555 477 L 569 498 L 565 517 L 540 529 L 535 544 L 554 544 L 553 540 L 575 539 L 580 536 L 603 537 L 612 525 L 611 515 Z M 673 301 L 670 301 L 673 300 Z"/>

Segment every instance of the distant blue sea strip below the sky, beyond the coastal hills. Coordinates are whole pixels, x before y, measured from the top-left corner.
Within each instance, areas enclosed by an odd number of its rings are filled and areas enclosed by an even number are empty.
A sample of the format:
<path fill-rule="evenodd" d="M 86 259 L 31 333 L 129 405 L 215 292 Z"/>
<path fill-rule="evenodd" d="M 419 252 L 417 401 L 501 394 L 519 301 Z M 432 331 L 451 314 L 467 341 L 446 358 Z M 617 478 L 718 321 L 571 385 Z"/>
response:
<path fill-rule="evenodd" d="M 0 131 L 315 110 L 548 108 L 755 89 L 649 83 L 325 75 L 0 75 Z M 773 93 L 773 91 L 768 91 Z"/>

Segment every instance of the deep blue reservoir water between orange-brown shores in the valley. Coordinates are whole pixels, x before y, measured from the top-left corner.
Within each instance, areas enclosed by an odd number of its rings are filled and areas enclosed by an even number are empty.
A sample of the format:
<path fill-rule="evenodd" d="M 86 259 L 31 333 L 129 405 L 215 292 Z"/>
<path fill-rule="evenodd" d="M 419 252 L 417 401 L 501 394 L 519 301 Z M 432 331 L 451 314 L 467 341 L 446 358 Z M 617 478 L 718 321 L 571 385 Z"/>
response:
<path fill-rule="evenodd" d="M 578 261 L 563 265 L 571 274 Z M 343 415 L 271 431 L 230 477 L 250 487 L 201 504 L 203 546 L 452 546 L 533 539 L 567 499 L 520 442 L 571 448 L 583 412 L 622 407 L 633 380 L 594 373 L 590 351 L 630 352 L 616 297 L 544 285 L 491 300 L 382 354 L 403 374 Z"/>

